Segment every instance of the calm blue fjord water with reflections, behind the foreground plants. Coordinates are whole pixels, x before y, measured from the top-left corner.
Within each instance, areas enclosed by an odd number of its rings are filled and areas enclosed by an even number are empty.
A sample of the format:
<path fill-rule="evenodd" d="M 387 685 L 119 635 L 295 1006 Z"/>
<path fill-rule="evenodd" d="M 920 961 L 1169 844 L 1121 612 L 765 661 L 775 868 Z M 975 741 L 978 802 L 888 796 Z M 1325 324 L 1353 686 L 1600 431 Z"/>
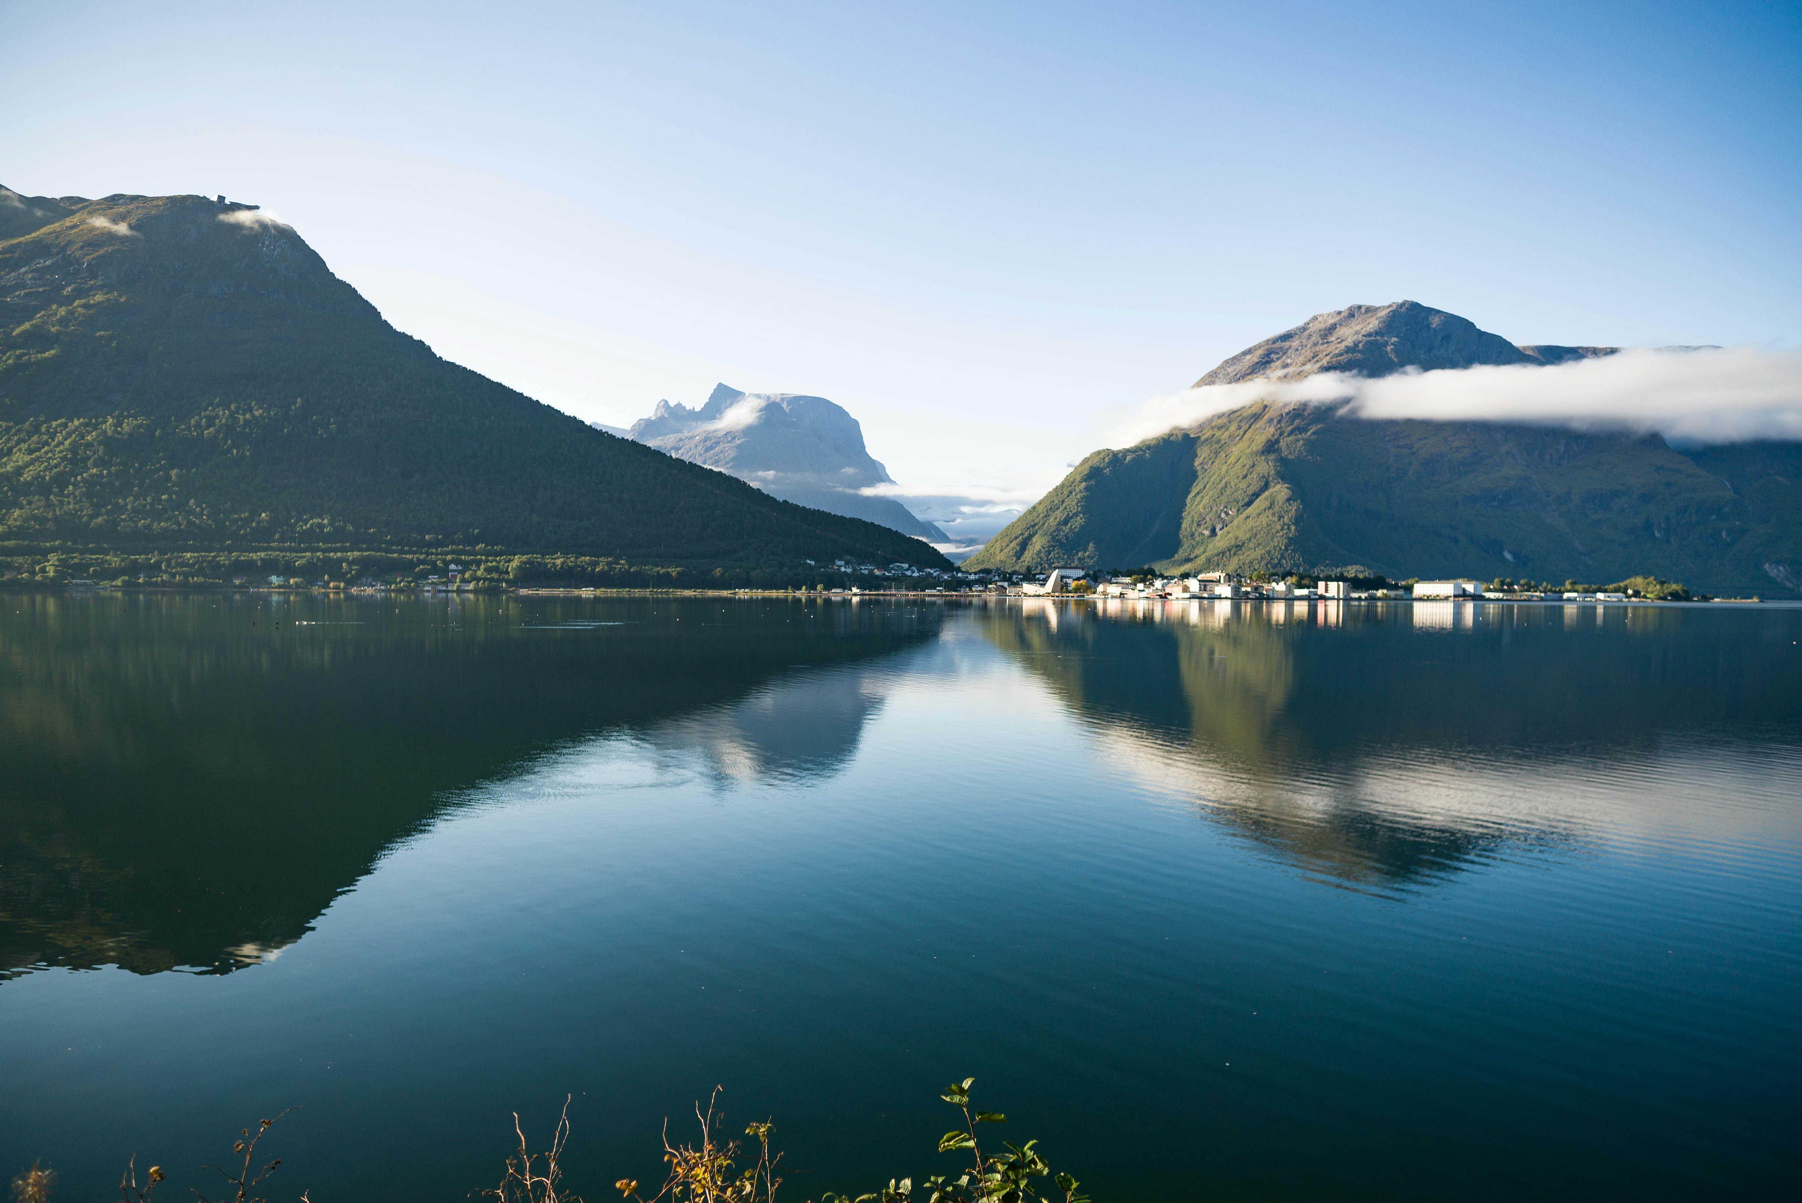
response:
<path fill-rule="evenodd" d="M 465 1198 L 977 1077 L 1097 1199 L 1795 1198 L 1802 609 L 0 612 L 0 1169 Z"/>

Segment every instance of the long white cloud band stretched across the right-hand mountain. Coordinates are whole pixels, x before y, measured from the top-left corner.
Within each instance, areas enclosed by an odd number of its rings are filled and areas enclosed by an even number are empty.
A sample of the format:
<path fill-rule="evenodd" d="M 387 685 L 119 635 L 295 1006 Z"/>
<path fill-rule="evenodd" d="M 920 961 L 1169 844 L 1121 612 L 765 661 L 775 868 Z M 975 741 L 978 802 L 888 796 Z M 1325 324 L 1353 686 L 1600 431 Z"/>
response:
<path fill-rule="evenodd" d="M 1663 434 L 1672 443 L 1802 439 L 1802 353 L 1761 348 L 1627 349 L 1541 367 L 1460 367 L 1366 378 L 1321 373 L 1155 396 L 1115 429 L 1130 447 L 1258 400 L 1337 405 L 1350 418 L 1512 421 Z"/>

